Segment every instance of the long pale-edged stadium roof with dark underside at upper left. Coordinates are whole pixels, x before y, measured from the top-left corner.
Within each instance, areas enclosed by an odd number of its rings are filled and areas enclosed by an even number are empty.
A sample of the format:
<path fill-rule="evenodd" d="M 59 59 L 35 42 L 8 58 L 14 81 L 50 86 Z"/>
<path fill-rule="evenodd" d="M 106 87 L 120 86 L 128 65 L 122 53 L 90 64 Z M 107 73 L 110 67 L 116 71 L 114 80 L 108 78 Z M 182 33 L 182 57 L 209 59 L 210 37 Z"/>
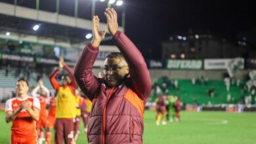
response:
<path fill-rule="evenodd" d="M 3 1 L 3 2 L 1 2 Z M 70 45 L 85 45 L 90 39 L 85 39 L 87 33 L 91 33 L 91 20 L 58 14 L 56 12 L 36 10 L 30 7 L 21 7 L 11 4 L 9 1 L 0 1 L 0 33 L 19 33 L 22 37 L 34 35 L 35 37 L 47 37 L 54 41 L 63 41 Z M 40 29 L 33 31 L 35 24 Z M 100 27 L 107 27 L 106 23 L 100 23 Z M 120 30 L 123 28 L 120 27 Z M 111 39 L 107 33 L 105 41 Z"/>

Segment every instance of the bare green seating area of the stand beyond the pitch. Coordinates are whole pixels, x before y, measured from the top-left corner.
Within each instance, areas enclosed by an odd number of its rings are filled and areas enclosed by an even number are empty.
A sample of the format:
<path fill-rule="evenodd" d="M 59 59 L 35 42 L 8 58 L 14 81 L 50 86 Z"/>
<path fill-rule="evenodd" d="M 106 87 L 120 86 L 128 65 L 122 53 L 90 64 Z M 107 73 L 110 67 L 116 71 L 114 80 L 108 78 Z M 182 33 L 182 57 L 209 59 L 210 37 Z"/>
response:
<path fill-rule="evenodd" d="M 175 90 L 173 86 L 169 85 L 168 95 L 179 96 L 183 103 L 195 104 L 195 100 L 200 105 L 222 104 L 222 103 L 238 103 L 242 98 L 242 88 L 236 85 L 230 85 L 229 92 L 226 91 L 226 86 L 222 80 L 209 80 L 207 84 L 192 85 L 191 80 L 179 79 L 179 88 Z M 158 79 L 156 84 L 160 86 L 163 83 L 163 79 Z M 154 87 L 154 86 L 153 86 Z M 210 97 L 208 91 L 210 88 L 214 88 L 214 96 Z M 231 100 L 227 101 L 227 95 L 231 95 Z M 156 90 L 153 90 L 150 97 L 150 101 L 155 101 L 158 96 Z"/>

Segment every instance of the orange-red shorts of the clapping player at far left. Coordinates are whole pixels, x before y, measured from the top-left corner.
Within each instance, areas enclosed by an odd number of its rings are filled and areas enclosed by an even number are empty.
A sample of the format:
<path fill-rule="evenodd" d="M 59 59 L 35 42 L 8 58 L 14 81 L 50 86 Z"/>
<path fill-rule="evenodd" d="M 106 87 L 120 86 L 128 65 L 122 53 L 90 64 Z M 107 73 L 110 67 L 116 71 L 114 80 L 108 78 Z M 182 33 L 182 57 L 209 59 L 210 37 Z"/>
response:
<path fill-rule="evenodd" d="M 37 137 L 17 137 L 16 135 L 12 135 L 11 144 L 37 144 Z"/>

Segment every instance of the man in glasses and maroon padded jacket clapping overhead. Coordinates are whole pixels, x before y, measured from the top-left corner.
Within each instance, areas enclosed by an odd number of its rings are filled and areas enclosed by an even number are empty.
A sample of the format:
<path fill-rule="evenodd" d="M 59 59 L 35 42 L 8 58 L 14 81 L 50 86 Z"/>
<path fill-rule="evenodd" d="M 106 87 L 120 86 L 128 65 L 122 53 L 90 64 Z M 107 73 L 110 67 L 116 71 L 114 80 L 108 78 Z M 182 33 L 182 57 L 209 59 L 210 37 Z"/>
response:
<path fill-rule="evenodd" d="M 104 62 L 104 78 L 93 75 L 98 46 L 106 31 L 99 30 L 93 17 L 93 41 L 75 64 L 75 79 L 93 101 L 88 126 L 89 143 L 142 143 L 144 106 L 151 82 L 146 62 L 138 48 L 118 30 L 117 13 L 106 9 L 108 30 L 120 52 L 112 52 Z"/>

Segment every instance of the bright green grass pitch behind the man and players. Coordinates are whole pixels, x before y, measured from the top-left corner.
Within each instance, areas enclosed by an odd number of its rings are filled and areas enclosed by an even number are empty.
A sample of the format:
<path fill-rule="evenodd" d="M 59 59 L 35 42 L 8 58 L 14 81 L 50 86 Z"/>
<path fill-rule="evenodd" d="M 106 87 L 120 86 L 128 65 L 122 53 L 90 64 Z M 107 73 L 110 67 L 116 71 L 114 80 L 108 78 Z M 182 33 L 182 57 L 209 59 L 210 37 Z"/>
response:
<path fill-rule="evenodd" d="M 156 126 L 155 111 L 145 111 L 145 144 L 256 144 L 256 113 L 226 112 L 181 112 L 181 122 L 168 122 Z M 0 111 L 0 143 L 8 144 L 11 139 L 11 123 L 5 123 L 5 115 Z M 87 143 L 81 134 L 77 144 Z"/>

